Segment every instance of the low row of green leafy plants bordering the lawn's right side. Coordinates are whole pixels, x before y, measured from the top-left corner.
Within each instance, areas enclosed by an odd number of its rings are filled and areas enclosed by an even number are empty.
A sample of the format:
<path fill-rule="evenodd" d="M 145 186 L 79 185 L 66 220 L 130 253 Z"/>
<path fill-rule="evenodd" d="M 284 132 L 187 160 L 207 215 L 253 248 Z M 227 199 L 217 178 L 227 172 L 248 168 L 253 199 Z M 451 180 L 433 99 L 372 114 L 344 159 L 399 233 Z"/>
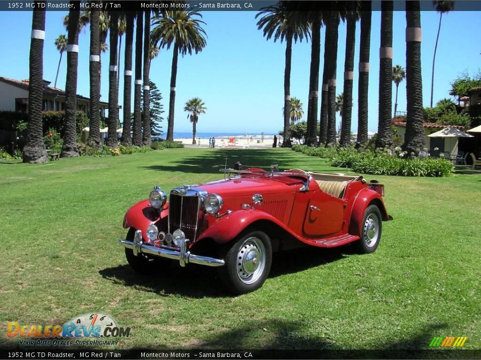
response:
<path fill-rule="evenodd" d="M 397 156 L 380 150 L 359 152 L 352 147 L 315 148 L 305 145 L 295 145 L 293 149 L 307 155 L 328 158 L 332 166 L 347 167 L 364 174 L 434 177 L 447 176 L 454 170 L 449 160 L 428 156 L 405 156 L 402 152 Z"/>

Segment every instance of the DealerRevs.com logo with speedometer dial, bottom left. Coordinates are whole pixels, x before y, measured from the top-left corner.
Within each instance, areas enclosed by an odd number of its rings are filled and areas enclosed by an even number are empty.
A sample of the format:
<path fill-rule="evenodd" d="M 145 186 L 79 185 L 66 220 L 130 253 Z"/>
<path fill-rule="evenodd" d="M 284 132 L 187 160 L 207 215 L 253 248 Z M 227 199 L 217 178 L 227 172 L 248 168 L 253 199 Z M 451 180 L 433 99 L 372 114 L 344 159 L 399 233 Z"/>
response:
<path fill-rule="evenodd" d="M 7 336 L 18 337 L 24 346 L 116 345 L 112 338 L 129 337 L 130 327 L 121 327 L 110 315 L 87 313 L 63 324 L 21 324 L 10 321 Z"/>

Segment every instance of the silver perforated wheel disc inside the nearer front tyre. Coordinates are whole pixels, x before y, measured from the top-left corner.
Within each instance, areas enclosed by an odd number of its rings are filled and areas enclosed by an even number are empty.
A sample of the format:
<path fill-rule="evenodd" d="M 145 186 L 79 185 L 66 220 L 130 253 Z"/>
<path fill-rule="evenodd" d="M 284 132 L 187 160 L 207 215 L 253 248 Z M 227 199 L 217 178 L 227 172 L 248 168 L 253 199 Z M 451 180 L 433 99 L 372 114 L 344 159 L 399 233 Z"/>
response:
<path fill-rule="evenodd" d="M 261 239 L 250 237 L 237 252 L 237 276 L 240 281 L 251 284 L 261 277 L 266 265 L 266 249 Z"/>

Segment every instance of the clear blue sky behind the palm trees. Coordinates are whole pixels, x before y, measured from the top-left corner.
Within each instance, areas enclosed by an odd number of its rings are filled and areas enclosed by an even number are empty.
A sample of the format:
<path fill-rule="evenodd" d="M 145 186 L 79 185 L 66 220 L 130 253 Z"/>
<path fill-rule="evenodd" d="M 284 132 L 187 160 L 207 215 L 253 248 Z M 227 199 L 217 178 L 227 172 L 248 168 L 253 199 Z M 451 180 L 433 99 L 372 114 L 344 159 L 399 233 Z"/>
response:
<path fill-rule="evenodd" d="M 44 45 L 44 78 L 55 80 L 59 52 L 54 40 L 66 33 L 62 17 L 67 12 L 48 11 Z M 203 11 L 206 22 L 207 46 L 197 55 L 179 57 L 174 131 L 191 131 L 183 106 L 186 100 L 199 96 L 207 111 L 199 119 L 199 132 L 277 132 L 282 128 L 284 105 L 285 43 L 267 41 L 257 30 L 255 11 Z M 479 40 L 480 11 L 452 11 L 442 18 L 441 34 L 436 55 L 434 102 L 449 97 L 449 82 L 462 71 L 471 75 L 481 66 Z M 32 13 L 29 11 L 0 12 L 0 40 L 4 55 L 0 57 L 0 76 L 24 79 L 29 76 L 29 46 Z M 439 22 L 436 11 L 421 13 L 423 103 L 429 105 L 432 53 Z M 405 12 L 394 11 L 394 64 L 405 66 Z M 356 29 L 354 74 L 354 107 L 352 131 L 357 131 L 357 63 L 359 23 Z M 337 92 L 342 92 L 346 27 L 339 27 Z M 125 36 L 123 38 L 125 40 Z M 324 50 L 324 29 L 321 35 L 321 79 Z M 369 130 L 377 131 L 378 72 L 379 72 L 380 12 L 372 14 L 371 60 L 369 78 Z M 89 95 L 89 29 L 79 36 L 79 82 L 77 93 Z M 123 47 L 123 46 L 122 46 Z M 8 55 L 6 55 L 8 54 Z M 172 48 L 161 49 L 152 60 L 150 77 L 163 95 L 167 117 Z M 309 90 L 310 44 L 293 46 L 291 96 L 296 96 L 307 109 Z M 66 56 L 62 59 L 57 87 L 65 88 Z M 123 73 L 123 48 L 121 59 Z M 108 100 L 108 54 L 102 57 L 102 100 Z M 123 98 L 123 79 L 119 99 Z M 393 84 L 393 97 L 395 86 Z M 394 99 L 393 99 L 394 108 Z M 405 82 L 399 86 L 398 110 L 406 109 Z M 305 119 L 306 116 L 304 116 Z M 122 115 L 121 115 L 122 118 Z M 340 117 L 338 115 L 338 124 Z M 166 120 L 163 128 L 166 129 Z"/>

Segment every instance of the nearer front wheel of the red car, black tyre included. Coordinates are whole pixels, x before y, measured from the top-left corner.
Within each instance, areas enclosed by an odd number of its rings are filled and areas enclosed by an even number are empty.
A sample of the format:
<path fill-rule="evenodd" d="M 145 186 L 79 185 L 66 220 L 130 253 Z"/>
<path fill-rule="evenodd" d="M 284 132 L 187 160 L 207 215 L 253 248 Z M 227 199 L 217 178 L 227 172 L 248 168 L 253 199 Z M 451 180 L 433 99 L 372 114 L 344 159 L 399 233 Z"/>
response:
<path fill-rule="evenodd" d="M 266 281 L 272 263 L 272 245 L 262 231 L 240 234 L 227 244 L 219 276 L 235 294 L 254 291 Z"/>

